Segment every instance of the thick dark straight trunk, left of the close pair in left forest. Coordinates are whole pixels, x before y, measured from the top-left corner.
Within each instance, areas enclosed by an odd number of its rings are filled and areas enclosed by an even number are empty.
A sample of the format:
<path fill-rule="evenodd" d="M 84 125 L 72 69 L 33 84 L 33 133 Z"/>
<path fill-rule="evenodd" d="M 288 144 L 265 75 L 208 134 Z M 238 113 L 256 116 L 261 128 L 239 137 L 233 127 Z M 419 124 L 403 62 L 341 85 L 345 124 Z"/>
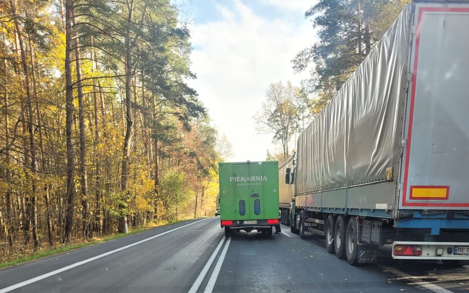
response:
<path fill-rule="evenodd" d="M 72 0 L 65 0 L 65 134 L 67 137 L 67 206 L 65 215 L 65 231 L 62 242 L 70 242 L 72 231 L 74 201 L 75 201 L 75 154 L 73 143 L 73 88 L 72 88 L 72 63 L 73 50 L 72 32 Z"/>

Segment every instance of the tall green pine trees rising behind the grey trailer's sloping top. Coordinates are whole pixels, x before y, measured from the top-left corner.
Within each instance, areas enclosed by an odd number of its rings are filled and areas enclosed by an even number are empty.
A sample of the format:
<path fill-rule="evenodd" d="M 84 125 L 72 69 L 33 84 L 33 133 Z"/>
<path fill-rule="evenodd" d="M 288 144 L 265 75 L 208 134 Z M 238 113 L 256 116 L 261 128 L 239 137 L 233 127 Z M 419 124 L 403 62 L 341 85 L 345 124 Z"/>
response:
<path fill-rule="evenodd" d="M 301 50 L 292 60 L 296 72 L 314 62 L 311 77 L 303 81 L 315 93 L 313 113 L 333 97 L 373 45 L 382 37 L 409 0 L 320 0 L 306 11 L 319 29 L 319 41 Z"/>

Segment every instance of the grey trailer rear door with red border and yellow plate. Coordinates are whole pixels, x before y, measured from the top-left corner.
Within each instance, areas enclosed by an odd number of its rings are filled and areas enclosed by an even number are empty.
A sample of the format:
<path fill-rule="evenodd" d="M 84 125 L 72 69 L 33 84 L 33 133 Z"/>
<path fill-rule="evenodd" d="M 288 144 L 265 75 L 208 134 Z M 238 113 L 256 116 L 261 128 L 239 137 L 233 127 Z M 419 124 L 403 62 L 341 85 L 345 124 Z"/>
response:
<path fill-rule="evenodd" d="M 401 209 L 469 207 L 469 5 L 417 3 Z"/>

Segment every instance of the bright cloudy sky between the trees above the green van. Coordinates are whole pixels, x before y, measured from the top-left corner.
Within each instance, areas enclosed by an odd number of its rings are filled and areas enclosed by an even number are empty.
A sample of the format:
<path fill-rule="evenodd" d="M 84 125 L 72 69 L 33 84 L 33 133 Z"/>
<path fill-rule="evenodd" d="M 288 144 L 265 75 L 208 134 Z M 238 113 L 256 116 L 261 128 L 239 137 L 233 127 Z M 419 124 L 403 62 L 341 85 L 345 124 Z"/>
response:
<path fill-rule="evenodd" d="M 300 81 L 291 60 L 317 39 L 305 11 L 313 0 L 191 0 L 182 17 L 191 20 L 188 81 L 208 110 L 212 125 L 230 141 L 231 162 L 263 161 L 281 152 L 273 134 L 257 134 L 253 116 L 269 84 Z M 293 138 L 294 139 L 294 138 Z"/>

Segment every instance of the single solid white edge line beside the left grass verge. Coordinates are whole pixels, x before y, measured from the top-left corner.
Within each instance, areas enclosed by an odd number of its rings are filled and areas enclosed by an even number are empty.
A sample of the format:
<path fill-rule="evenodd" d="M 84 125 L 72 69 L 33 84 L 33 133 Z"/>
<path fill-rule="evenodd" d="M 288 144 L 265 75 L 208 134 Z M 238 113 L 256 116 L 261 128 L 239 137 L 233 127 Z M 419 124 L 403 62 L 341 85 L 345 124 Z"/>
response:
<path fill-rule="evenodd" d="M 84 265 L 84 264 L 86 264 L 86 263 L 89 263 L 89 262 L 91 262 L 91 261 L 93 261 L 93 260 L 96 260 L 96 259 L 102 258 L 102 257 L 104 257 L 104 256 L 107 256 L 107 255 L 110 255 L 110 254 L 113 254 L 113 253 L 116 253 L 116 252 L 119 252 L 119 251 L 123 251 L 123 250 L 128 249 L 128 248 L 134 247 L 134 246 L 136 246 L 136 245 L 139 245 L 139 244 L 142 244 L 142 243 L 144 243 L 144 242 L 153 240 L 153 239 L 155 239 L 155 238 L 158 238 L 158 237 L 160 237 L 160 236 L 163 236 L 163 235 L 166 235 L 166 234 L 168 234 L 168 233 L 174 232 L 174 231 L 176 231 L 176 230 L 186 228 L 186 227 L 188 227 L 188 226 L 190 226 L 190 225 L 199 223 L 199 222 L 201 222 L 201 221 L 205 221 L 206 219 L 209 219 L 209 218 L 201 219 L 201 220 L 198 220 L 198 221 L 196 221 L 196 222 L 192 222 L 192 223 L 189 223 L 189 224 L 187 224 L 187 225 L 184 225 L 184 226 L 181 226 L 181 227 L 178 227 L 178 228 L 171 229 L 171 230 L 169 230 L 169 231 L 160 233 L 160 234 L 155 235 L 155 236 L 151 236 L 151 237 L 145 238 L 145 239 L 143 239 L 143 240 L 141 240 L 141 241 L 137 241 L 137 242 L 135 242 L 135 243 L 132 243 L 132 244 L 123 246 L 123 247 L 118 248 L 118 249 L 115 249 L 115 250 L 113 250 L 113 251 L 107 251 L 107 252 L 104 252 L 104 253 L 102 253 L 102 254 L 99 254 L 99 255 L 96 255 L 96 256 L 87 258 L 87 259 L 85 259 L 85 260 L 78 261 L 78 262 L 72 263 L 72 264 L 70 264 L 70 265 L 64 266 L 64 267 L 62 267 L 62 268 L 53 270 L 53 271 L 48 272 L 48 273 L 46 273 L 46 274 L 43 274 L 43 275 L 40 275 L 40 276 L 31 278 L 31 279 L 29 279 L 29 280 L 26 280 L 26 281 L 23 281 L 23 282 L 20 282 L 20 283 L 17 283 L 17 284 L 14 284 L 14 285 L 5 287 L 5 288 L 3 288 L 3 289 L 0 289 L 0 293 L 10 292 L 10 291 L 16 290 L 16 289 L 18 289 L 18 288 L 27 286 L 27 285 L 29 285 L 29 284 L 36 283 L 36 282 L 38 282 L 38 281 L 41 281 L 41 280 L 46 279 L 46 278 L 48 278 L 48 277 L 51 277 L 51 276 L 53 276 L 53 275 L 55 275 L 55 274 L 68 271 L 68 270 L 70 270 L 70 269 L 76 268 L 77 266 L 81 266 L 81 265 Z"/>

